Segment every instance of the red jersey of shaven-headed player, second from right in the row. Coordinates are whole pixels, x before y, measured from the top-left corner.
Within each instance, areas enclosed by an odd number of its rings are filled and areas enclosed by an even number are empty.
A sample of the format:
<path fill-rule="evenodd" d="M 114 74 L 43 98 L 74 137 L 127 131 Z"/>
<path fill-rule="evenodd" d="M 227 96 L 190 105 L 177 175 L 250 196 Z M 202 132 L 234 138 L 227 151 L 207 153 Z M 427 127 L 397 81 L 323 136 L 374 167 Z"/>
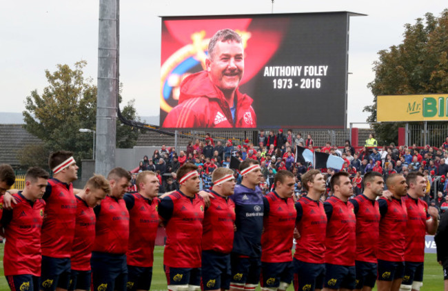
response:
<path fill-rule="evenodd" d="M 382 198 L 378 204 L 381 219 L 376 257 L 383 261 L 405 261 L 406 203 L 403 199 L 389 201 Z"/>

